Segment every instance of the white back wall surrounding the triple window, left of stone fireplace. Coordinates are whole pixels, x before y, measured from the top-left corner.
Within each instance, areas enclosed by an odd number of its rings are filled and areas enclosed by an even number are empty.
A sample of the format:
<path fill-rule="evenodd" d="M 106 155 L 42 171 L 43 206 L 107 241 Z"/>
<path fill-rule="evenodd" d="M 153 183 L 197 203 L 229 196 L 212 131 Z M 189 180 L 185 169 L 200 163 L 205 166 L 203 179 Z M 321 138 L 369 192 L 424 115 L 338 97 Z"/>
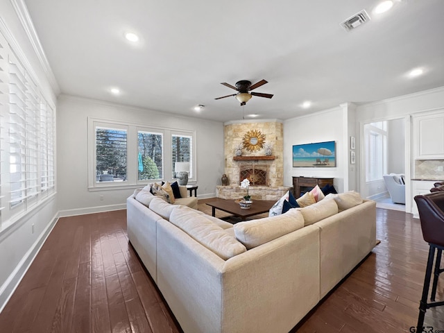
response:
<path fill-rule="evenodd" d="M 223 123 L 73 96 L 60 96 L 57 110 L 58 194 L 61 214 L 124 208 L 126 198 L 134 191 L 88 190 L 87 117 L 196 130 L 198 196 L 215 196 L 216 185 L 220 184 L 223 174 Z M 103 200 L 99 200 L 100 196 L 103 196 Z"/>

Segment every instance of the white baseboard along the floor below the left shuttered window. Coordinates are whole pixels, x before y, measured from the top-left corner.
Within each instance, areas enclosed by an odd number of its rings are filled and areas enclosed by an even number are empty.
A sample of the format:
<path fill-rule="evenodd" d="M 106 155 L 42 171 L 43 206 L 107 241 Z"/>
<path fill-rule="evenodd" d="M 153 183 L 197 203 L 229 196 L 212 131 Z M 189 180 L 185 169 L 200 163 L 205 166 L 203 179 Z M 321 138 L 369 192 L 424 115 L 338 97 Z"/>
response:
<path fill-rule="evenodd" d="M 10 275 L 8 276 L 8 279 L 6 279 L 6 281 L 0 287 L 0 312 L 3 311 L 3 308 L 6 306 L 6 303 L 11 298 L 12 293 L 14 293 L 15 289 L 17 289 L 20 281 L 22 281 L 22 278 L 33 263 L 35 256 L 37 255 L 37 253 L 39 253 L 40 248 L 42 248 L 44 242 L 46 241 L 46 238 L 48 238 L 57 221 L 58 216 L 56 214 L 56 216 L 51 219 L 51 222 L 46 225 L 46 228 L 44 228 L 40 236 L 35 240 L 33 246 L 31 246 L 31 248 L 26 251 L 26 254 L 22 258 L 22 260 L 20 260 L 14 271 L 12 271 L 12 273 L 10 273 Z"/>

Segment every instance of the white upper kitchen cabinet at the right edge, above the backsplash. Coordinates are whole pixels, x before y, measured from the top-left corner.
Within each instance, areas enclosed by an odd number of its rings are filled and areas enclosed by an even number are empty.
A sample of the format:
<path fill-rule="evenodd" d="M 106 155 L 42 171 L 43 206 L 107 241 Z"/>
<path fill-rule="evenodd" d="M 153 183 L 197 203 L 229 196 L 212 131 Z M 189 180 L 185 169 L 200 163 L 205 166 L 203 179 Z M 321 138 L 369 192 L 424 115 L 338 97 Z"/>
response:
<path fill-rule="evenodd" d="M 444 159 L 444 109 L 413 117 L 416 160 Z"/>

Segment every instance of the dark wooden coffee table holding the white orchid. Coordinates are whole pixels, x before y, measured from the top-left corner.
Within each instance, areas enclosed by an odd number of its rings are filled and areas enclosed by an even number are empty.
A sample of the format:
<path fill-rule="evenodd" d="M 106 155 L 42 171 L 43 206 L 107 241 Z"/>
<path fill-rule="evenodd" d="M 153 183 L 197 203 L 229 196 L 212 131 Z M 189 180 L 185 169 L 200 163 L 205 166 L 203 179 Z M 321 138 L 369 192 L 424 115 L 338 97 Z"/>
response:
<path fill-rule="evenodd" d="M 267 213 L 275 202 L 275 200 L 253 200 L 249 210 L 241 209 L 239 203 L 236 203 L 234 200 L 221 198 L 214 198 L 207 205 L 212 207 L 212 216 L 216 215 L 216 210 L 223 210 L 223 212 L 233 214 L 244 221 L 247 217 Z"/>

